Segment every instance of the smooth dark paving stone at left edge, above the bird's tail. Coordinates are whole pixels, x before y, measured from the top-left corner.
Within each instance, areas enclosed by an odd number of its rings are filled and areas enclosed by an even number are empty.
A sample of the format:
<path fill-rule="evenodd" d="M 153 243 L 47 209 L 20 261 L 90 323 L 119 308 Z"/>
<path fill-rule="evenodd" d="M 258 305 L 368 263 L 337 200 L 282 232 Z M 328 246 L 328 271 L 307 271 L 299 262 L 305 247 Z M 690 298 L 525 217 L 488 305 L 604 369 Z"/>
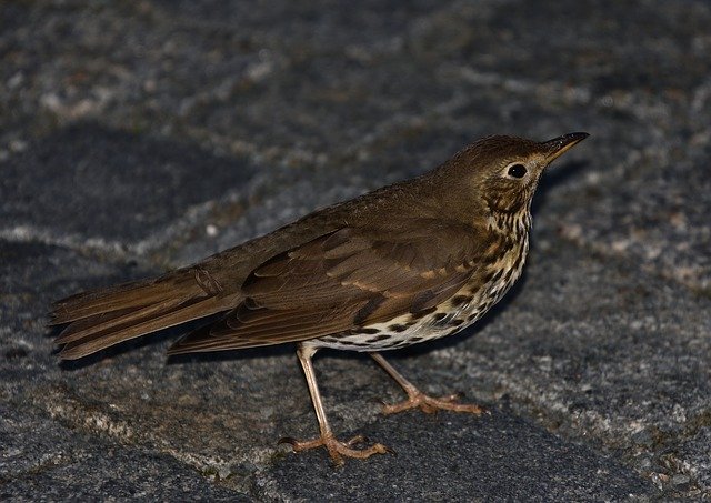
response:
<path fill-rule="evenodd" d="M 189 220 L 190 209 L 239 190 L 253 168 L 187 144 L 84 124 L 34 140 L 2 172 L 6 235 L 77 235 L 79 243 L 136 247 L 164 239 L 173 220 Z"/>

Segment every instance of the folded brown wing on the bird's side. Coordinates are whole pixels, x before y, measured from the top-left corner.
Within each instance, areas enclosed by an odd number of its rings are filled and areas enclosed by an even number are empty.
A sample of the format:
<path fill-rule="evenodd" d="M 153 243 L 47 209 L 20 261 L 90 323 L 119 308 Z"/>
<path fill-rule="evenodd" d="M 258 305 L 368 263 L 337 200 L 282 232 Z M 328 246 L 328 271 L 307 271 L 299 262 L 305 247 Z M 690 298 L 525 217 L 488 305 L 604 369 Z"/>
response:
<path fill-rule="evenodd" d="M 433 310 L 471 278 L 487 237 L 433 219 L 339 229 L 257 266 L 246 300 L 170 353 L 304 341 Z"/>

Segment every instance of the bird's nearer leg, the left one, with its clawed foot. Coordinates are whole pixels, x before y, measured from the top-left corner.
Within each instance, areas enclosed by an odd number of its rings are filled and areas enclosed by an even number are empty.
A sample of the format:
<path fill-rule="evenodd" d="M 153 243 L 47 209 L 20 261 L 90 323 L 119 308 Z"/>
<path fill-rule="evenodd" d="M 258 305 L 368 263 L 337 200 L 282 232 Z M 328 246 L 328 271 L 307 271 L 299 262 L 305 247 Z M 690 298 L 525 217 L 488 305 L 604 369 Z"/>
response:
<path fill-rule="evenodd" d="M 353 445 L 363 442 L 362 435 L 358 435 L 349 440 L 348 442 L 340 442 L 333 435 L 331 426 L 326 418 L 326 411 L 323 410 L 323 402 L 321 401 L 321 393 L 316 382 L 316 373 L 313 372 L 313 363 L 311 356 L 316 353 L 314 348 L 308 348 L 303 344 L 299 344 L 297 355 L 303 368 L 303 374 L 307 378 L 307 384 L 309 385 L 309 393 L 311 393 L 311 401 L 313 402 L 313 410 L 316 416 L 319 420 L 319 427 L 321 430 L 321 436 L 319 439 L 297 441 L 294 439 L 282 439 L 280 442 L 290 443 L 294 452 L 306 451 L 308 449 L 314 449 L 324 446 L 329 451 L 329 455 L 336 465 L 343 464 L 343 457 L 358 457 L 365 459 L 373 454 L 384 454 L 391 452 L 383 444 L 377 443 L 367 449 L 352 449 Z"/>

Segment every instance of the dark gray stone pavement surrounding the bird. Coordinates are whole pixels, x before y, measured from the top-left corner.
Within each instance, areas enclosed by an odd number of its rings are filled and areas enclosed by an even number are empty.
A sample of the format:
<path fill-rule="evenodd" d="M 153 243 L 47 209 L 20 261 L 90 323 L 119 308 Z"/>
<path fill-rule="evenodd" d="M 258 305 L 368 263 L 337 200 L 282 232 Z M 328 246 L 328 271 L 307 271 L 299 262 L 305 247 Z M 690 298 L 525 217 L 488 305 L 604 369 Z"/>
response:
<path fill-rule="evenodd" d="M 0 500 L 711 497 L 705 1 L 4 1 Z M 158 273 L 433 168 L 473 139 L 592 137 L 535 201 L 521 284 L 394 358 L 491 415 L 384 418 L 368 360 L 328 411 L 397 456 L 334 470 L 289 346 L 60 364 L 52 300 Z"/>

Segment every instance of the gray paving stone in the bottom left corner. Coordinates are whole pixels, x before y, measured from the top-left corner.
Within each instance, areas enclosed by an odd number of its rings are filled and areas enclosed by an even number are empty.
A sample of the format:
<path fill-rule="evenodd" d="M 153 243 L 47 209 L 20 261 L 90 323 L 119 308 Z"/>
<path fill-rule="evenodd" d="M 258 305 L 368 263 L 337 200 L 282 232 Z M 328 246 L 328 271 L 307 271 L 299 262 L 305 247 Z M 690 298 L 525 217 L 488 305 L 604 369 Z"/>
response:
<path fill-rule="evenodd" d="M 250 501 L 173 457 L 61 426 L 0 404 L 3 501 Z"/>

